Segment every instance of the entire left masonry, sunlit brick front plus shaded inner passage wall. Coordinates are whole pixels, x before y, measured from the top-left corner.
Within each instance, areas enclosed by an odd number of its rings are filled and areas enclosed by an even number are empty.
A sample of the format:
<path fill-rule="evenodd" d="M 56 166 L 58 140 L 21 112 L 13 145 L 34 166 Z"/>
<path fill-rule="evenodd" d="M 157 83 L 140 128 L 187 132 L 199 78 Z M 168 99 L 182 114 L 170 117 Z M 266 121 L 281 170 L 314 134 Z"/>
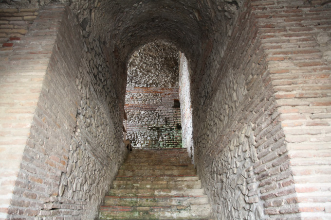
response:
<path fill-rule="evenodd" d="M 93 219 L 126 155 L 102 45 L 59 4 L 1 53 L 0 219 Z"/>

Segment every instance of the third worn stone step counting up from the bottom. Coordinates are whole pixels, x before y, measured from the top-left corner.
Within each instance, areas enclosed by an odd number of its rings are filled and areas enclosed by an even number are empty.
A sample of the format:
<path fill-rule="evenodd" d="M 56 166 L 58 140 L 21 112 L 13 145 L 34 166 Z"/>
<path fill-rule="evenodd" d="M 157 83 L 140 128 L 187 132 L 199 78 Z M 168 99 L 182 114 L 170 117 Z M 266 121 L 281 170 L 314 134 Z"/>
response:
<path fill-rule="evenodd" d="M 200 189 L 110 189 L 108 196 L 201 196 Z"/>

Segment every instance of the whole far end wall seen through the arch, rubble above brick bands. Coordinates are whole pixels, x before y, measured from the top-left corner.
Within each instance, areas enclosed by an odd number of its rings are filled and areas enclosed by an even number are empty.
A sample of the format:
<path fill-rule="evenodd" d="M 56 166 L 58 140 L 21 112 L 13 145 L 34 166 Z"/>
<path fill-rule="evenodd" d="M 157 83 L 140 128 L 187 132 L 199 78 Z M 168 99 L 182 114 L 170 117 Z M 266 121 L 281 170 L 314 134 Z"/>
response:
<path fill-rule="evenodd" d="M 178 91 L 178 50 L 163 41 L 132 54 L 125 111 L 127 138 L 138 148 L 182 147 Z"/>

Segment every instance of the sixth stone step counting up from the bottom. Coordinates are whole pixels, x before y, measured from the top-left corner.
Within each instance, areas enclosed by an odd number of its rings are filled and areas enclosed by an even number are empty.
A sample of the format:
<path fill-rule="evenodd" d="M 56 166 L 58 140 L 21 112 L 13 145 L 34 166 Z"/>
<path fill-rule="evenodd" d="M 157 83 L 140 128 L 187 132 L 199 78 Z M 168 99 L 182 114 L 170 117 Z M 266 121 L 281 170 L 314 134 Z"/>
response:
<path fill-rule="evenodd" d="M 195 169 L 146 169 L 146 170 L 118 170 L 119 176 L 165 176 L 165 175 L 195 175 Z"/>

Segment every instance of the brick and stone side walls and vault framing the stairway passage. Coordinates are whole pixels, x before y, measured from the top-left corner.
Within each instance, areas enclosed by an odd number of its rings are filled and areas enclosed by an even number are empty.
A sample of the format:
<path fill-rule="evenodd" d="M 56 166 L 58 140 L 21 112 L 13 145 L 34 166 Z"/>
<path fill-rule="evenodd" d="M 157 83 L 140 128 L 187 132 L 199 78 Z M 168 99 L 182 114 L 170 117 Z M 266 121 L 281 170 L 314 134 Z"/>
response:
<path fill-rule="evenodd" d="M 183 54 L 213 217 L 331 218 L 329 0 L 61 2 L 0 2 L 0 219 L 97 215 L 126 157 L 127 64 L 157 39 Z"/>

